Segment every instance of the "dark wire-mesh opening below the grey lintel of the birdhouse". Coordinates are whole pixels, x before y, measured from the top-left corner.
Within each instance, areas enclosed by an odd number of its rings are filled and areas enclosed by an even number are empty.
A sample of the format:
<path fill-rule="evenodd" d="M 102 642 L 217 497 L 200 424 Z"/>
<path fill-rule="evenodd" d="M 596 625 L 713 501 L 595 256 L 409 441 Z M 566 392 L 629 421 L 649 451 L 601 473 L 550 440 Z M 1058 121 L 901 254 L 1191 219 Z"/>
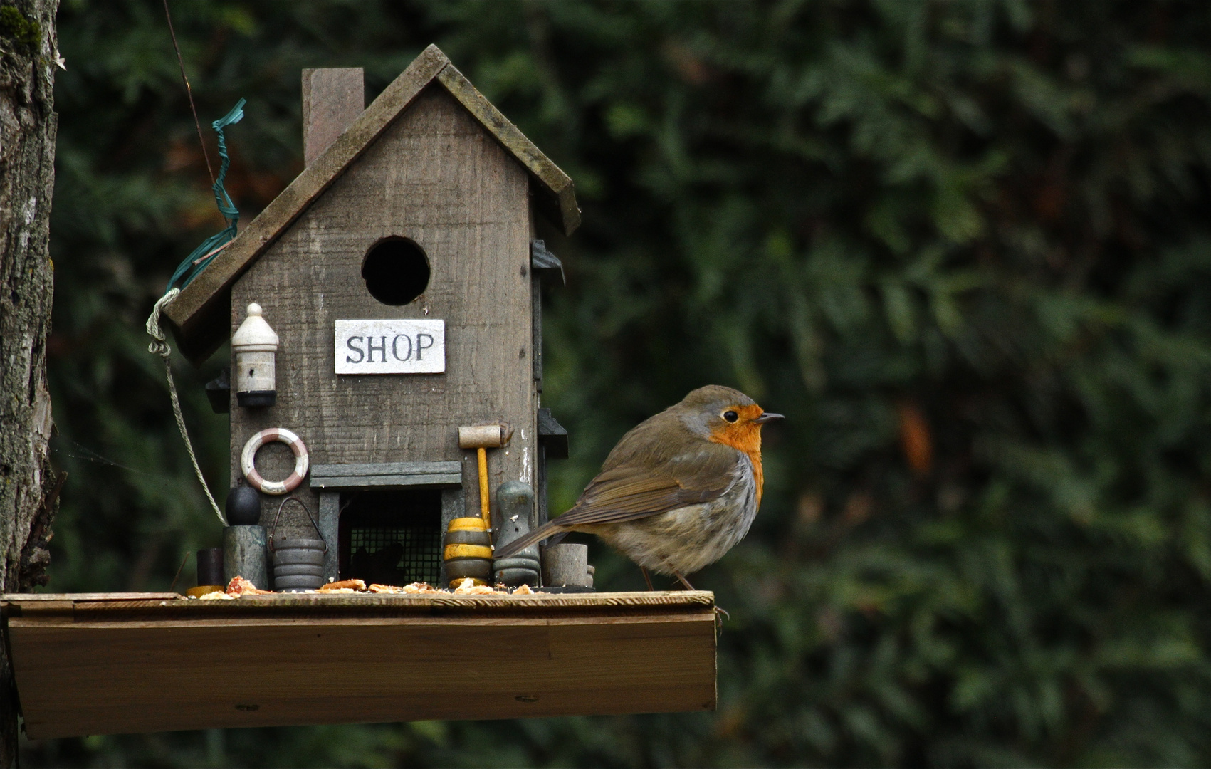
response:
<path fill-rule="evenodd" d="M 342 495 L 340 576 L 366 584 L 438 584 L 441 492 L 354 492 Z"/>

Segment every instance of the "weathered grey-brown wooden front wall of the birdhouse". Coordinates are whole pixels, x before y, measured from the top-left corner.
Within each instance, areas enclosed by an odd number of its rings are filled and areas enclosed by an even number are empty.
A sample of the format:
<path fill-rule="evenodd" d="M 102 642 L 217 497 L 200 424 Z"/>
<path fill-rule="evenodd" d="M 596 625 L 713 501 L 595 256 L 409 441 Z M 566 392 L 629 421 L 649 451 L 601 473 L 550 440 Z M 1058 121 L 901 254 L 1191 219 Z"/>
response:
<path fill-rule="evenodd" d="M 429 258 L 429 286 L 408 305 L 379 303 L 361 276 L 367 251 L 388 236 L 415 241 Z M 257 302 L 281 339 L 277 403 L 233 404 L 231 477 L 254 432 L 283 426 L 314 464 L 461 461 L 463 483 L 475 488 L 476 463 L 459 449 L 458 427 L 504 421 L 513 435 L 488 453 L 489 486 L 534 484 L 528 176 L 442 87 L 417 97 L 231 295 L 231 332 Z M 337 375 L 333 322 L 392 317 L 446 321 L 446 373 Z M 281 480 L 293 459 L 282 447 L 262 449 L 257 466 Z M 295 494 L 317 509 L 315 490 Z M 265 501 L 264 526 L 276 505 Z M 302 511 L 287 513 L 287 526 L 305 528 Z"/>

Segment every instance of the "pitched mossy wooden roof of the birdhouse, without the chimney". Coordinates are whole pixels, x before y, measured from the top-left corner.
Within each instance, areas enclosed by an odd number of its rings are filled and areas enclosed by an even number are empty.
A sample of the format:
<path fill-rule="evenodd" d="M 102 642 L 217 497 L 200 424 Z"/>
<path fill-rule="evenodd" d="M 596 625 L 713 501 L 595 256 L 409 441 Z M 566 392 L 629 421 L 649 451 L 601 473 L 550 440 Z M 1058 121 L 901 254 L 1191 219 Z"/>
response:
<path fill-rule="evenodd" d="M 440 85 L 532 179 L 538 211 L 570 235 L 580 224 L 572 179 L 511 124 L 437 46 L 425 51 L 165 308 L 180 351 L 195 365 L 230 333 L 231 286 L 430 85 Z"/>

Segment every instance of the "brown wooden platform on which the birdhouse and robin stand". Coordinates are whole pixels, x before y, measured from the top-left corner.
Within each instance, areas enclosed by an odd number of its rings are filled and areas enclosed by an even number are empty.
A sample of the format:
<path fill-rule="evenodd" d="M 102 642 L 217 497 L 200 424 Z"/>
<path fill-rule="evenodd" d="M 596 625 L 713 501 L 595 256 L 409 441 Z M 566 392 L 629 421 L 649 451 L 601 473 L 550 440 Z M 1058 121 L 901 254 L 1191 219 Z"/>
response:
<path fill-rule="evenodd" d="M 10 593 L 30 739 L 713 710 L 714 595 Z"/>

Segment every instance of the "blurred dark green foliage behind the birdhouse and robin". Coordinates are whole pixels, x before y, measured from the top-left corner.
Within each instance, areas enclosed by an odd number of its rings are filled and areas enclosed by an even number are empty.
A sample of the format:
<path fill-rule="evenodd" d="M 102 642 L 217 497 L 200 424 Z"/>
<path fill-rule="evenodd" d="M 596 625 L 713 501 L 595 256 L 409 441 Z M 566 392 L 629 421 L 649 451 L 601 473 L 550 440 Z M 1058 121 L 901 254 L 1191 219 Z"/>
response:
<path fill-rule="evenodd" d="M 299 70 L 437 42 L 576 182 L 546 233 L 568 505 L 691 388 L 767 430 L 710 715 L 25 742 L 35 765 L 1211 763 L 1211 11 L 1190 1 L 172 2 L 245 222 Z M 50 589 L 166 589 L 217 522 L 143 320 L 218 230 L 154 0 L 63 0 Z M 207 137 L 211 140 L 211 137 Z M 213 149 L 212 149 L 213 156 Z M 182 365 L 212 486 L 225 418 Z M 637 587 L 593 552 L 598 580 Z"/>

